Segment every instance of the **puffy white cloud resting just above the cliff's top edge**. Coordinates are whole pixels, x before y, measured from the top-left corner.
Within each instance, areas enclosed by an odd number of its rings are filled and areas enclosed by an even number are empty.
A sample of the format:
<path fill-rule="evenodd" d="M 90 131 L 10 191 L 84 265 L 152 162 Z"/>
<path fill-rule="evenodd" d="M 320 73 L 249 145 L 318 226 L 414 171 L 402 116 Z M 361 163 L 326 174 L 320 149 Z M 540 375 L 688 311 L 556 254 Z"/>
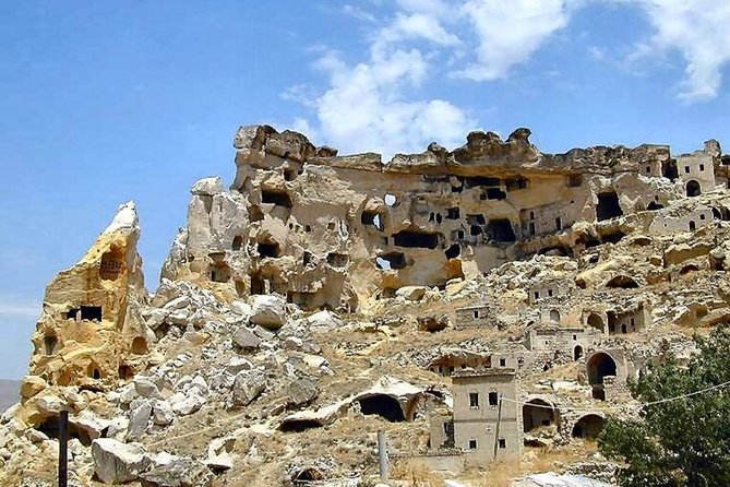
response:
<path fill-rule="evenodd" d="M 409 99 L 427 73 L 417 49 L 374 51 L 369 62 L 348 66 L 328 54 L 319 66 L 331 87 L 314 100 L 316 129 L 343 152 L 420 152 L 432 140 L 457 145 L 470 124 L 466 114 L 441 99 Z M 300 127 L 304 124 L 300 121 Z"/>

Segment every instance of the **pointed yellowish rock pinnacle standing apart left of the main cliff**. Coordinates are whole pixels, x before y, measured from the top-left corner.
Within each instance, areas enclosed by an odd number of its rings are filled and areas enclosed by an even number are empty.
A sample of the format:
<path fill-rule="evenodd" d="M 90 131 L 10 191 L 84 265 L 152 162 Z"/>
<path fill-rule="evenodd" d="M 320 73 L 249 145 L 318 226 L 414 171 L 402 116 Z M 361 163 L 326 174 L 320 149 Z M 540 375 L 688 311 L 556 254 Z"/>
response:
<path fill-rule="evenodd" d="M 22 388 L 25 419 L 44 419 L 34 397 L 46 389 L 103 391 L 144 368 L 141 357 L 155 337 L 140 314 L 147 294 L 139 237 L 136 209 L 129 202 L 86 254 L 46 288 Z"/>

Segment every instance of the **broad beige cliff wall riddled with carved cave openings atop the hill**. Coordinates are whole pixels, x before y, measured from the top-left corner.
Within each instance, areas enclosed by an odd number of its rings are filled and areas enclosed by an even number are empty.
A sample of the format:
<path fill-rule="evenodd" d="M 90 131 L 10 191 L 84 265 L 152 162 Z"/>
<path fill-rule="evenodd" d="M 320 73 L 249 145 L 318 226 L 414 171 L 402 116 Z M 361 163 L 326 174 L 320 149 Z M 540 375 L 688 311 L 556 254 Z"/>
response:
<path fill-rule="evenodd" d="M 230 190 L 195 185 L 163 275 L 354 311 L 403 286 L 444 286 L 536 253 L 577 257 L 627 224 L 648 227 L 643 212 L 709 190 L 721 167 L 714 141 L 679 159 L 665 145 L 551 155 L 529 134 L 472 132 L 453 152 L 431 144 L 383 164 L 242 127 Z M 612 219 L 621 215 L 632 218 Z"/>

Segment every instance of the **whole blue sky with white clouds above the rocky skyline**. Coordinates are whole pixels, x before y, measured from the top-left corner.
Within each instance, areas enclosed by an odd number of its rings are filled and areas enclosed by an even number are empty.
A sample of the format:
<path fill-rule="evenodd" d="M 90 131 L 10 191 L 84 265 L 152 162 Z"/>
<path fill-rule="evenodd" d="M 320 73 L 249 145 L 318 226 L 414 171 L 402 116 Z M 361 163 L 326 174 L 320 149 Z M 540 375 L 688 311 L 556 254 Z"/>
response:
<path fill-rule="evenodd" d="M 0 3 L 0 377 L 46 284 L 137 202 L 147 287 L 239 124 L 342 153 L 529 127 L 544 152 L 730 147 L 727 0 Z"/>

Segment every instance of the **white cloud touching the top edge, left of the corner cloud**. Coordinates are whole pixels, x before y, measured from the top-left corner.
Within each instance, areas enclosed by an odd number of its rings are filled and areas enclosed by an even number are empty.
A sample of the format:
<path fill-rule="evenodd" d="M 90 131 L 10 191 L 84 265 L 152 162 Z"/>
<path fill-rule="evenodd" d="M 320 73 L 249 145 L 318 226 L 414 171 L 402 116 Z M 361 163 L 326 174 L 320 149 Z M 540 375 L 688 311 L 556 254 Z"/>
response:
<path fill-rule="evenodd" d="M 476 32 L 477 59 L 455 71 L 457 78 L 489 81 L 505 78 L 557 31 L 565 27 L 575 1 L 469 0 L 460 8 Z"/>

